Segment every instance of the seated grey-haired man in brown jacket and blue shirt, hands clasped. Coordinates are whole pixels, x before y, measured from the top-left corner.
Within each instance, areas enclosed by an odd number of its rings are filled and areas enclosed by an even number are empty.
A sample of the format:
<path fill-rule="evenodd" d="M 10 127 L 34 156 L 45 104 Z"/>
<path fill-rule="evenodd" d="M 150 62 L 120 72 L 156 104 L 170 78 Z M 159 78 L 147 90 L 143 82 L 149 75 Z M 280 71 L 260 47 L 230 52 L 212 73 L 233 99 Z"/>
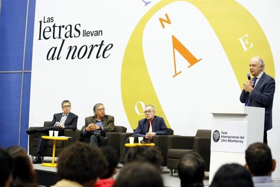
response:
<path fill-rule="evenodd" d="M 85 118 L 85 126 L 81 130 L 80 141 L 89 143 L 92 146 L 106 146 L 108 138 L 106 132 L 114 131 L 114 117 L 105 115 L 105 108 L 102 103 L 93 107 L 94 116 Z"/>

